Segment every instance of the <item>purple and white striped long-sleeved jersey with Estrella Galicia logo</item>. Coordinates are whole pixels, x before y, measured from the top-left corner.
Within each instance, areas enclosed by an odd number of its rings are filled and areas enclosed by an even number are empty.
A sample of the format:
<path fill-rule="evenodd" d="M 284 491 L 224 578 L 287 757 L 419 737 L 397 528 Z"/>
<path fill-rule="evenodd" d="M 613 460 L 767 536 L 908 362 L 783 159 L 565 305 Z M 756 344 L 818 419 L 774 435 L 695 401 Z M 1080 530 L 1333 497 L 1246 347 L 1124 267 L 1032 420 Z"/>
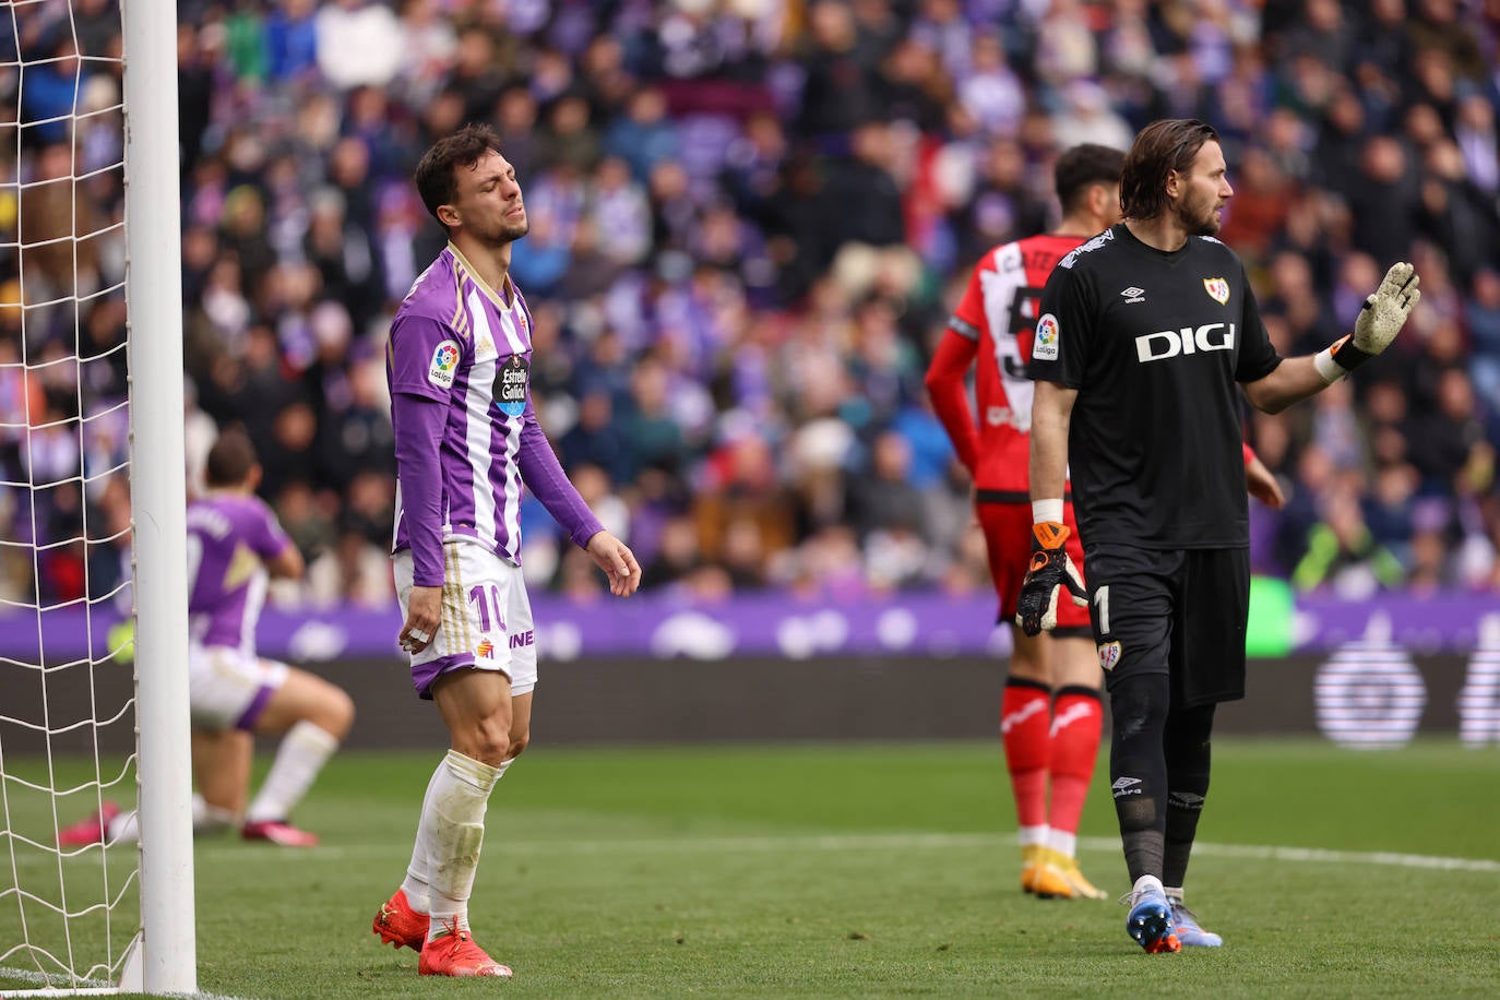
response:
<path fill-rule="evenodd" d="M 442 541 L 472 538 L 520 562 L 520 487 L 584 546 L 600 531 L 548 444 L 531 403 L 531 315 L 452 243 L 390 327 L 386 378 L 396 436 L 396 532 L 414 583 L 442 583 Z"/>

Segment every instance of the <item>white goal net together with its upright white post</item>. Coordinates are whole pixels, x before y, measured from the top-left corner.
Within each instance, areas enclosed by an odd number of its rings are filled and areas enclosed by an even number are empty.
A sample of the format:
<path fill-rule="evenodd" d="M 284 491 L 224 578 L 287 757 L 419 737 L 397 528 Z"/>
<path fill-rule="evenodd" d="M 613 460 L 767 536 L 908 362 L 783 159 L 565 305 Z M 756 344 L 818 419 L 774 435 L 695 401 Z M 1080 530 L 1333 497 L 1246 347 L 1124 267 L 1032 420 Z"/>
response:
<path fill-rule="evenodd" d="M 0 12 L 0 996 L 196 988 L 174 13 Z"/>

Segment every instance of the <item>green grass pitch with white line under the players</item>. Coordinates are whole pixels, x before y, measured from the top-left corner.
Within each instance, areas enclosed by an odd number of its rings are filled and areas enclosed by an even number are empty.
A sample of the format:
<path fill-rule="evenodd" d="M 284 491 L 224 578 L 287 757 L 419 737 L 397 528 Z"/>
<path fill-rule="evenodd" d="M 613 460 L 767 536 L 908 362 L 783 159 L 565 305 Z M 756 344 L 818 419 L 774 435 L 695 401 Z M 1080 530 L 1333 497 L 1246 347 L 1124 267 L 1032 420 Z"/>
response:
<path fill-rule="evenodd" d="M 506 984 L 418 979 L 416 952 L 369 933 L 405 870 L 440 753 L 336 757 L 297 814 L 322 834 L 318 849 L 200 841 L 200 988 L 256 999 L 1500 990 L 1492 748 L 1218 741 L 1188 901 L 1226 946 L 1148 957 L 1113 901 L 1020 894 L 996 745 L 538 741 L 490 801 L 471 904 L 477 940 L 516 970 Z M 1096 885 L 1124 892 L 1106 784 L 1101 760 L 1080 859 Z M 15 820 L 26 807 L 14 787 L 10 799 Z M 34 858 L 16 870 L 46 882 Z M 26 913 L 33 934 L 48 930 L 34 904 Z M 20 940 L 20 918 L 14 894 L 0 900 L 0 952 Z M 0 964 L 30 966 L 26 954 Z"/>

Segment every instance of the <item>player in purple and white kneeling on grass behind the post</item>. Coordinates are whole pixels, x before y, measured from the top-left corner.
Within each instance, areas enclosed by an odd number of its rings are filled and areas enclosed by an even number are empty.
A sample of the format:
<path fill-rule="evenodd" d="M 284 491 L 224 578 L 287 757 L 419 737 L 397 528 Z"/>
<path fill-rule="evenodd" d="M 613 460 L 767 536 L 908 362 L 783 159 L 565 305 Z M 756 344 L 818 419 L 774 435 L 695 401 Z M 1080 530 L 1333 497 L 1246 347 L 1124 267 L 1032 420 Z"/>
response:
<path fill-rule="evenodd" d="M 312 847 L 318 837 L 286 820 L 348 735 L 354 703 L 322 678 L 255 652 L 268 577 L 298 579 L 303 571 L 302 553 L 255 496 L 260 481 L 255 447 L 231 427 L 208 450 L 207 495 L 188 505 L 194 829 L 224 829 L 243 814 L 244 840 Z M 285 736 L 246 811 L 250 733 Z M 58 832 L 69 847 L 136 837 L 135 813 L 112 802 Z"/>

